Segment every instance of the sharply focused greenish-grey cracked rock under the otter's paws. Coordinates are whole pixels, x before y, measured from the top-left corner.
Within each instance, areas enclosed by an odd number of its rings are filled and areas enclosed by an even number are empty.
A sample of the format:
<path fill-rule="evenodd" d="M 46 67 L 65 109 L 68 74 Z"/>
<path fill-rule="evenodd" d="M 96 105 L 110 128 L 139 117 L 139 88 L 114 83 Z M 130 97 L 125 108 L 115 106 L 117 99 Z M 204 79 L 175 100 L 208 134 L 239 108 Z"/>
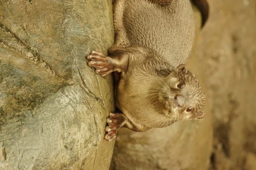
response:
<path fill-rule="evenodd" d="M 0 169 L 107 170 L 113 80 L 86 65 L 113 44 L 111 0 L 0 0 Z"/>

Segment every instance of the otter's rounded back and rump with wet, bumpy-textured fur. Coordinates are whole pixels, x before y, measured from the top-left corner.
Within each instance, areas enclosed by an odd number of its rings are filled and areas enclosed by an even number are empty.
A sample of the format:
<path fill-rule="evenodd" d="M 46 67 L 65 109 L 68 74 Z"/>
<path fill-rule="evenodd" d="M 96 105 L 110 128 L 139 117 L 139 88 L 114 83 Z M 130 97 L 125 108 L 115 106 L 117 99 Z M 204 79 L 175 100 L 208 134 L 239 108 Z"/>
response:
<path fill-rule="evenodd" d="M 116 0 L 114 47 L 145 47 L 174 67 L 186 64 L 194 42 L 193 10 L 189 0 L 169 1 Z"/>

